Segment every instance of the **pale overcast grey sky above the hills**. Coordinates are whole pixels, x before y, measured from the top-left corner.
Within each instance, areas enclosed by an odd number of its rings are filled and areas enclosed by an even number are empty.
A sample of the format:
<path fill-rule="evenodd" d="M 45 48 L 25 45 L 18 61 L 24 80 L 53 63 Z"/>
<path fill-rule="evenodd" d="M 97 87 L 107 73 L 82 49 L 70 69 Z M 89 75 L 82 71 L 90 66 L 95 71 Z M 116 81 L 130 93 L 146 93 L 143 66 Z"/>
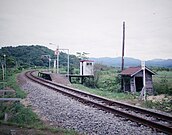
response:
<path fill-rule="evenodd" d="M 0 47 L 119 57 L 124 21 L 125 57 L 172 59 L 172 0 L 0 0 Z"/>

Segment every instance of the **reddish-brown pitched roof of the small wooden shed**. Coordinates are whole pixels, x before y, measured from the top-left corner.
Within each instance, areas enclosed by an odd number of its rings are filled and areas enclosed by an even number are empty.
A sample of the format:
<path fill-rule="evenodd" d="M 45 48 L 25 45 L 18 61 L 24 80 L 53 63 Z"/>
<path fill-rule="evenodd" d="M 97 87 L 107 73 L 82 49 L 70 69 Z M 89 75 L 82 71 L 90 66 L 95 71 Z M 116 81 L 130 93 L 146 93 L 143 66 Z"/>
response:
<path fill-rule="evenodd" d="M 145 67 L 145 69 L 150 72 L 152 75 L 155 75 L 153 71 L 151 71 L 149 68 Z M 139 73 L 142 71 L 142 67 L 129 67 L 127 69 L 124 69 L 120 75 L 129 75 L 129 76 L 134 76 L 135 74 Z"/>

